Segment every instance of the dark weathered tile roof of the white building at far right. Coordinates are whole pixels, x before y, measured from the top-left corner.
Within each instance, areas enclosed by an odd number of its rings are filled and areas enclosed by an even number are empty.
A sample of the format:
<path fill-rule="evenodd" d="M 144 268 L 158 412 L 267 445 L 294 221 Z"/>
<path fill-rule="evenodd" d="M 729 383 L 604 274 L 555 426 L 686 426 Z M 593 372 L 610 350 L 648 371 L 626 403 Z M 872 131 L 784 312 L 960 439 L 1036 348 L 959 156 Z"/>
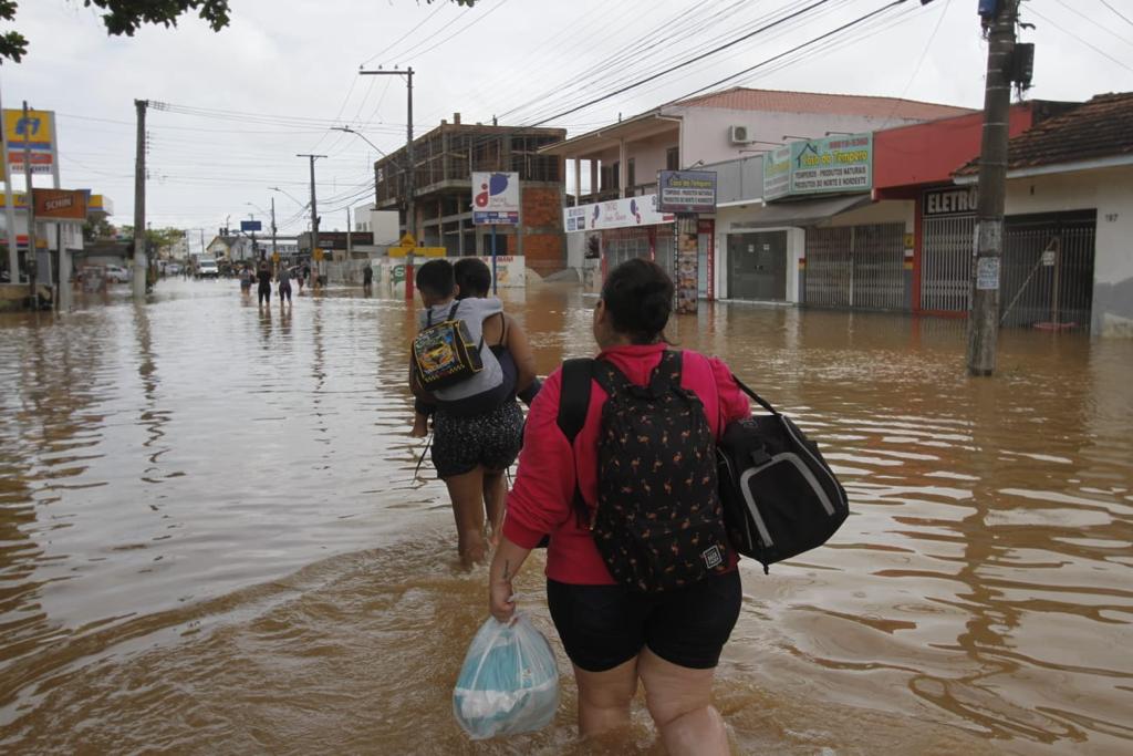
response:
<path fill-rule="evenodd" d="M 1133 92 L 1099 94 L 1008 143 L 1007 170 L 1133 155 Z M 979 171 L 979 159 L 957 176 Z"/>

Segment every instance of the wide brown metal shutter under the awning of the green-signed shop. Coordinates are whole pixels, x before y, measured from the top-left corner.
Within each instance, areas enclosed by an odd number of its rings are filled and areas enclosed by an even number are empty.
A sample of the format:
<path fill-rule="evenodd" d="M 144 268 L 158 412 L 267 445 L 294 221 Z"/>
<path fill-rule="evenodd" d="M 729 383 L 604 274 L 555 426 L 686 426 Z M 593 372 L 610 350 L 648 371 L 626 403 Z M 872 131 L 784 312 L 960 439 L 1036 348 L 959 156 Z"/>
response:
<path fill-rule="evenodd" d="M 807 229 L 806 303 L 908 309 L 904 223 Z"/>

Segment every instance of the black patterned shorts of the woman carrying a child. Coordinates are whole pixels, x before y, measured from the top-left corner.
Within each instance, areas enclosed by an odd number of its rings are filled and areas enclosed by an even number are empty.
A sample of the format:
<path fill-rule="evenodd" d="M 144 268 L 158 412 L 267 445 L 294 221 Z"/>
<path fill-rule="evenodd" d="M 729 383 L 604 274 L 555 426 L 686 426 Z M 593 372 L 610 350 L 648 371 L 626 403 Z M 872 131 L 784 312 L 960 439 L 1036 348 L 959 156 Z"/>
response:
<path fill-rule="evenodd" d="M 478 465 L 506 469 L 522 443 L 523 413 L 514 399 L 470 417 L 438 408 L 433 419 L 433 466 L 438 478 L 470 473 Z"/>

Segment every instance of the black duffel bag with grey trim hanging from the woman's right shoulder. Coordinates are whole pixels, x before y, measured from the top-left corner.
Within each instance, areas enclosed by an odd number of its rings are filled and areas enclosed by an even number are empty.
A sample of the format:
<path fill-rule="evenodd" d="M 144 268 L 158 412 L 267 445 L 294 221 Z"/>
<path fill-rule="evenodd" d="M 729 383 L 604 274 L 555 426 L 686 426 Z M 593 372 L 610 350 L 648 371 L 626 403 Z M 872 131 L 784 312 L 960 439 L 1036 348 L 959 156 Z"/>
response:
<path fill-rule="evenodd" d="M 734 375 L 770 415 L 729 423 L 717 447 L 729 543 L 769 564 L 820 546 L 850 513 L 846 492 L 807 438 Z"/>

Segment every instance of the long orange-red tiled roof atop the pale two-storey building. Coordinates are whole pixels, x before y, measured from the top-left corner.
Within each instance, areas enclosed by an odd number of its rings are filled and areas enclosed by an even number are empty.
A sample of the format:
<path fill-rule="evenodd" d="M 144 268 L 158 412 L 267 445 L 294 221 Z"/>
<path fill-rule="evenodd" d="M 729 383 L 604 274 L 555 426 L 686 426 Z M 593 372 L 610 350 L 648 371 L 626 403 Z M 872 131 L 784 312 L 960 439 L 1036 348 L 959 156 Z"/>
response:
<path fill-rule="evenodd" d="M 681 100 L 675 104 L 690 108 L 764 110 L 786 113 L 829 113 L 926 121 L 976 112 L 970 108 L 940 105 L 932 102 L 919 102 L 917 100 L 901 100 L 900 97 L 749 90 L 742 86 L 702 94 L 689 100 Z"/>

